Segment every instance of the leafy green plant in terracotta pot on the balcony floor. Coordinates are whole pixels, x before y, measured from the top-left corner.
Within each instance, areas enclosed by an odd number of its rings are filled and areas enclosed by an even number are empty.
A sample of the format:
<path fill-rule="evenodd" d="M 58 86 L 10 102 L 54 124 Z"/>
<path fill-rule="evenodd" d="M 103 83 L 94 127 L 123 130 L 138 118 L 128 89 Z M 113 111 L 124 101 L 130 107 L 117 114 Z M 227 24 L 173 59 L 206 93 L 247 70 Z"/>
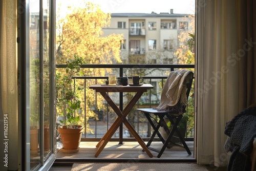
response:
<path fill-rule="evenodd" d="M 56 74 L 57 106 L 62 109 L 60 116 L 63 119 L 60 120 L 61 125 L 58 127 L 58 131 L 63 145 L 62 152 L 76 153 L 79 151 L 83 129 L 83 126 L 79 124 L 80 118 L 77 113 L 78 110 L 81 110 L 79 94 L 83 88 L 75 83 L 73 77 L 82 75 L 80 67 L 87 62 L 74 54 L 72 57 L 68 57 L 66 63 L 66 72 Z"/>

